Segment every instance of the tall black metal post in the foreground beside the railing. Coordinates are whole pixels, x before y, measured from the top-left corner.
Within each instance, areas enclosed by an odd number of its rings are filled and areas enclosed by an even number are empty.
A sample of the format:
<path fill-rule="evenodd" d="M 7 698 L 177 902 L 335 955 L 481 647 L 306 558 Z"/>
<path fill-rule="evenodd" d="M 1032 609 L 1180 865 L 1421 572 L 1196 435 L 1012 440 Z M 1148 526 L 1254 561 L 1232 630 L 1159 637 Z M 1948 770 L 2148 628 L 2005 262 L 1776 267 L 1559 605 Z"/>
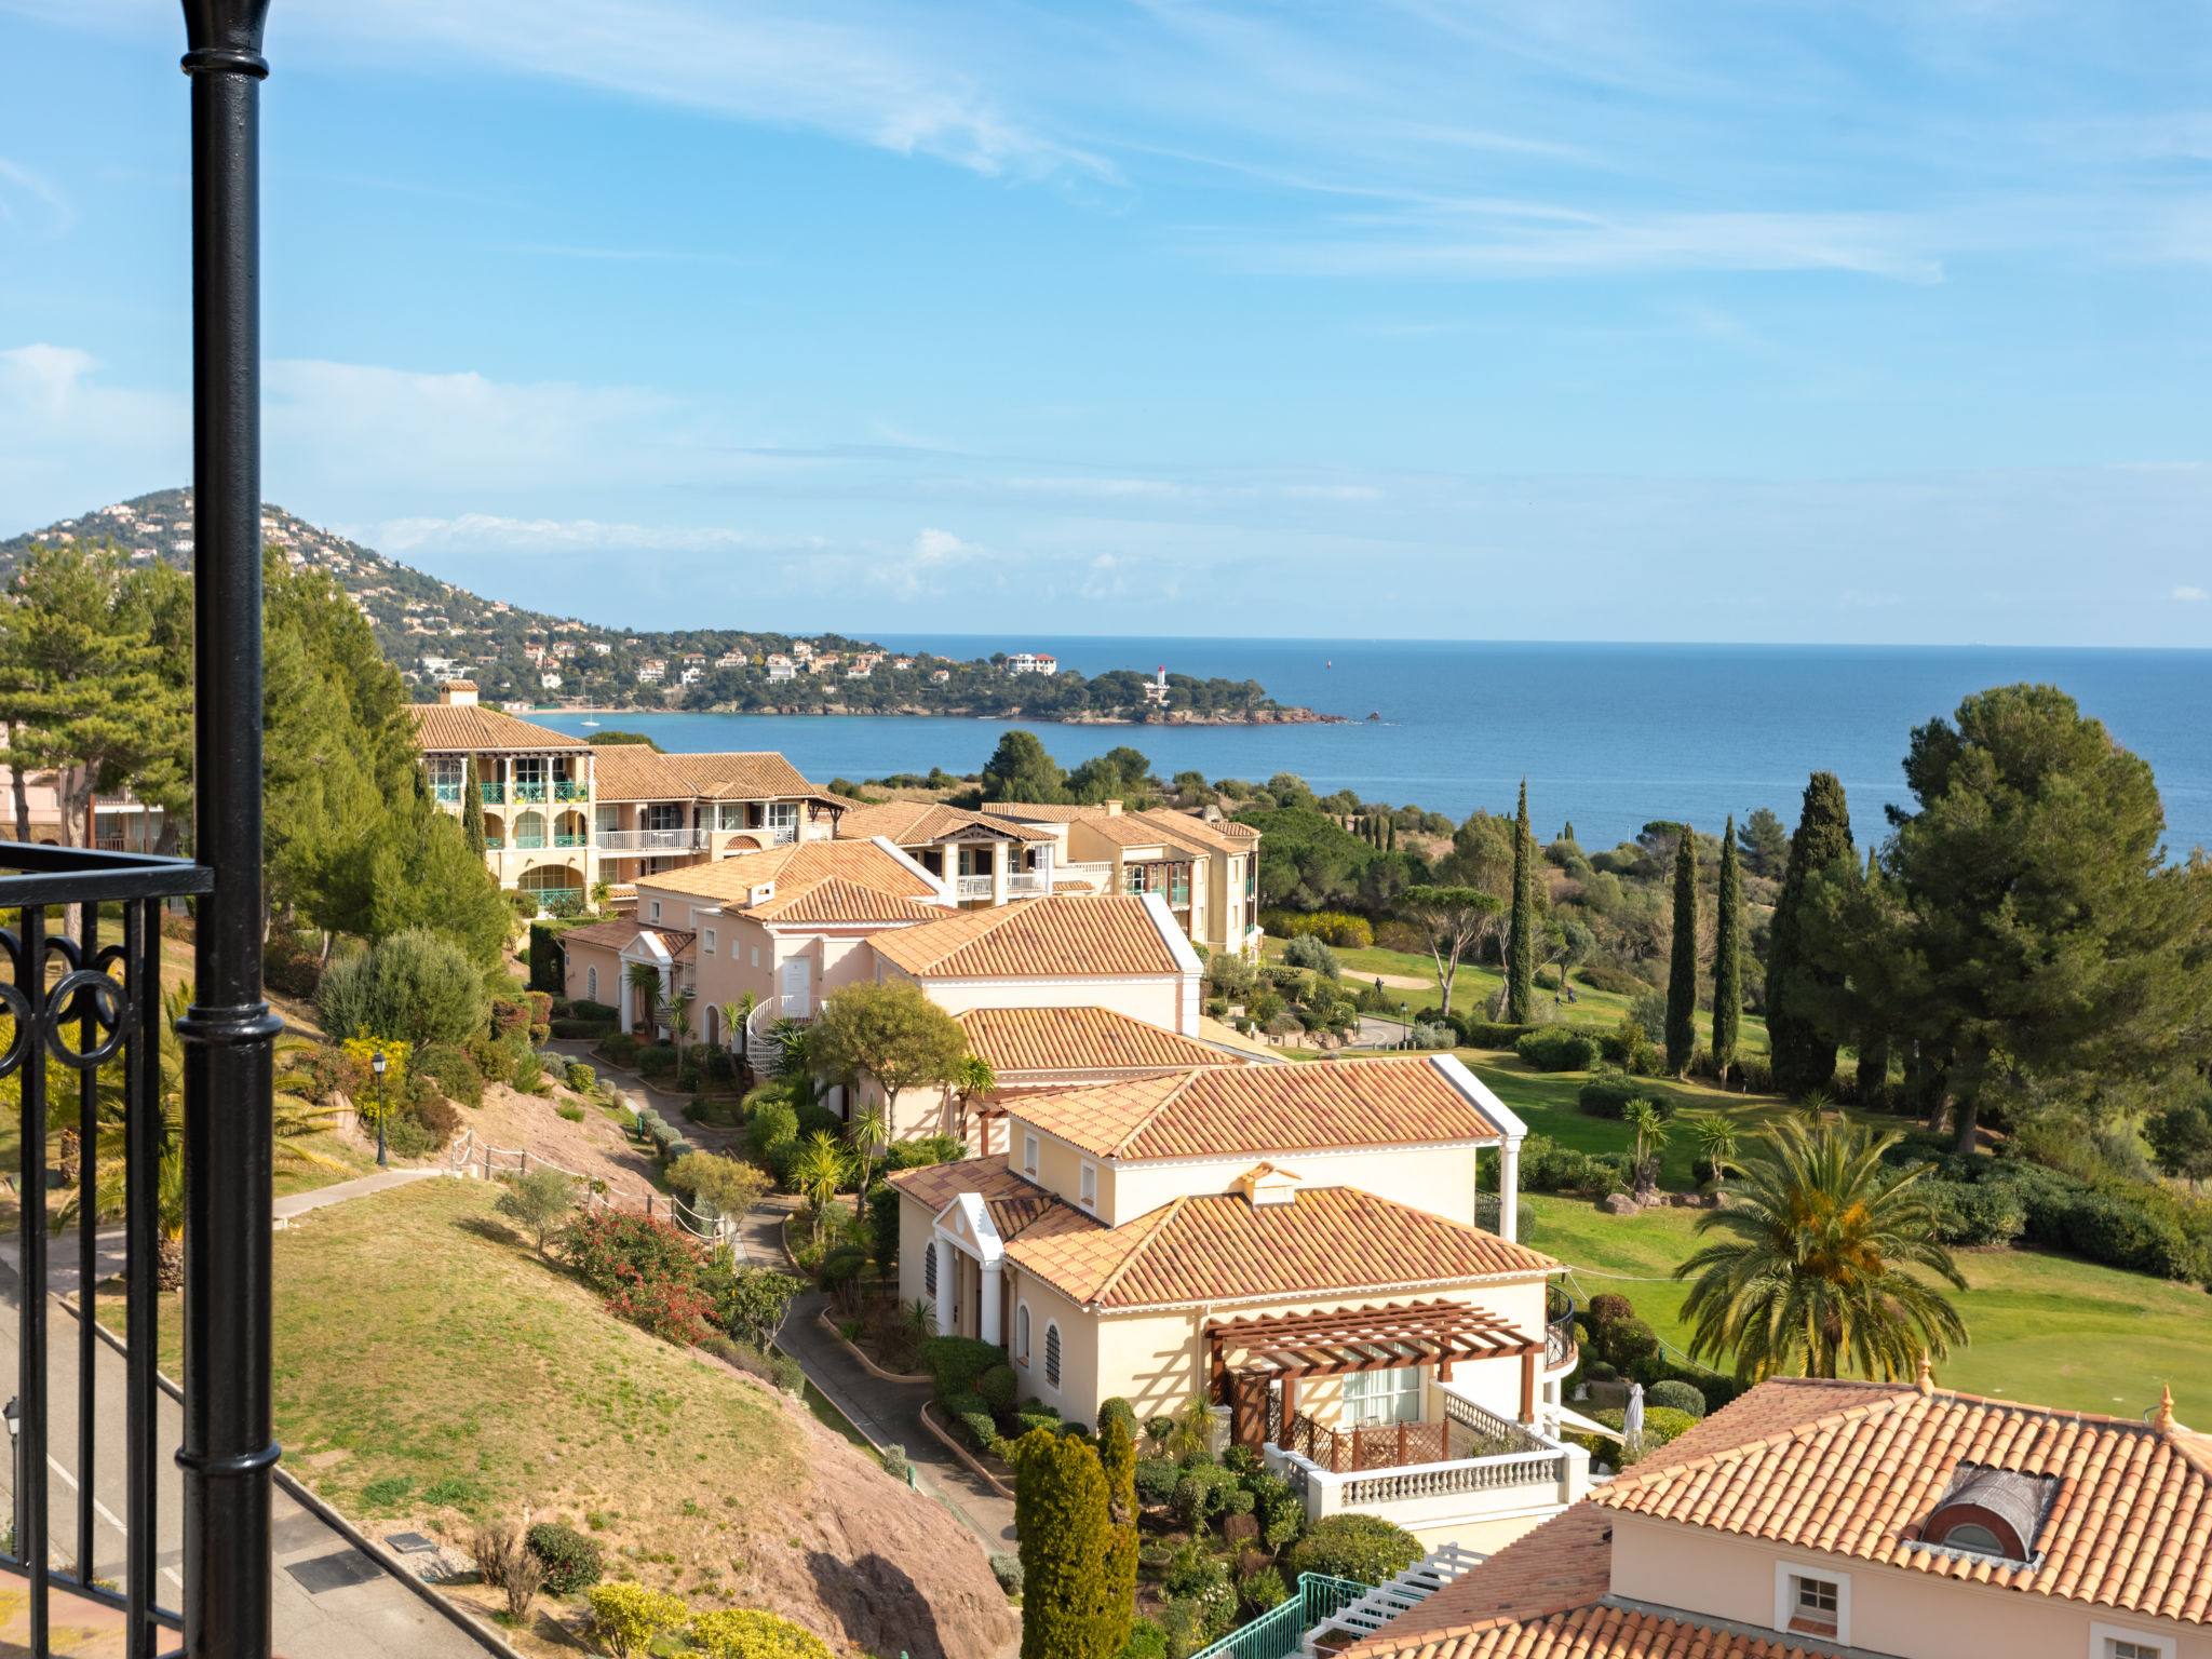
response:
<path fill-rule="evenodd" d="M 261 31 L 184 0 L 192 82 L 192 929 L 184 1040 L 184 1652 L 268 1659 L 274 1053 L 261 1000 Z"/>

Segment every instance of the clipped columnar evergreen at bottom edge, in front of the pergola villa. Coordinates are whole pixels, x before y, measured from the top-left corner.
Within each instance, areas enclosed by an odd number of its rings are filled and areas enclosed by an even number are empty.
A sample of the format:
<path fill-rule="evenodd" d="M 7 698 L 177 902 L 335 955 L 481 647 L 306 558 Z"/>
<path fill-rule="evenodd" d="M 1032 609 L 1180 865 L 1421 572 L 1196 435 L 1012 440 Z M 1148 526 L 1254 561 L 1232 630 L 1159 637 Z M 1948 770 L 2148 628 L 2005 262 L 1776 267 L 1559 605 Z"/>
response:
<path fill-rule="evenodd" d="M 1031 1429 L 1013 1442 L 1022 1551 L 1022 1659 L 1113 1659 L 1106 1471 L 1088 1442 Z M 1128 1615 L 1121 1626 L 1126 1628 Z M 1126 1641 L 1126 1637 L 1124 1637 Z"/>

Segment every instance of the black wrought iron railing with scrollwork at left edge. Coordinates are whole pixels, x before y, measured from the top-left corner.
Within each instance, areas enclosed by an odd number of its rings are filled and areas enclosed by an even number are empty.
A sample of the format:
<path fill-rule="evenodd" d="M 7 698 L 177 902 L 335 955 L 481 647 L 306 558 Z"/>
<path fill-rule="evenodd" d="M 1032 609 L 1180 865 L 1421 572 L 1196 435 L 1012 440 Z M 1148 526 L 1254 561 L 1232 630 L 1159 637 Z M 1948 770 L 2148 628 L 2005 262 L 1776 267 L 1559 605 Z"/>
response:
<path fill-rule="evenodd" d="M 144 854 L 9 845 L 0 865 L 0 1077 L 13 1077 L 20 1106 L 22 1159 L 15 1172 L 20 1208 L 20 1274 L 15 1307 L 15 1475 L 13 1528 L 0 1571 L 29 1582 L 29 1646 L 49 1652 L 53 1593 L 111 1606 L 126 1617 L 126 1652 L 148 1659 L 161 1630 L 184 1615 L 161 1606 L 155 1573 L 181 1533 L 175 1504 L 159 1509 L 159 1478 L 175 1447 L 161 1436 L 161 1387 L 155 1374 L 159 1323 L 159 1254 L 164 1237 L 164 1164 L 177 1159 L 177 1124 L 164 1110 L 161 1068 L 161 909 L 164 900 L 212 889 L 199 865 Z M 58 907 L 80 907 L 80 929 L 60 931 Z M 102 922 L 102 907 L 119 922 Z M 243 1102 L 239 1102 L 243 1106 Z M 55 1197 L 58 1146 L 73 1133 L 77 1168 L 71 1197 Z M 66 1168 L 60 1170 L 66 1177 Z M 192 1179 L 221 1179 L 195 1170 Z M 60 1188 L 69 1192 L 71 1188 Z M 75 1210 L 75 1338 L 58 1338 L 49 1292 L 49 1225 Z M 95 1332 L 95 1285 L 113 1261 L 100 1261 L 100 1228 L 119 1214 L 124 1228 L 124 1310 L 131 1343 L 111 1356 Z M 73 1349 L 73 1354 L 71 1354 Z M 117 1387 L 102 1371 L 122 1371 Z M 188 1374 L 188 1383 L 190 1383 Z M 73 1394 L 73 1398 L 69 1398 Z M 58 1400 L 58 1396 L 62 1396 Z M 60 1405 L 60 1411 L 55 1407 Z M 55 1418 L 73 1431 L 55 1431 Z M 119 1453 L 117 1453 L 119 1447 Z M 124 1515 L 95 1498 L 102 1467 L 122 1462 Z M 55 1475 L 69 1489 L 55 1493 Z M 60 1498 L 60 1502 L 55 1502 Z M 115 1540 L 102 1548 L 102 1531 Z M 122 1559 L 117 1562 L 117 1551 Z M 58 1566 L 55 1557 L 66 1562 Z M 190 1548 L 184 1555 L 192 1562 Z M 115 1584 L 122 1584 L 117 1590 Z"/>

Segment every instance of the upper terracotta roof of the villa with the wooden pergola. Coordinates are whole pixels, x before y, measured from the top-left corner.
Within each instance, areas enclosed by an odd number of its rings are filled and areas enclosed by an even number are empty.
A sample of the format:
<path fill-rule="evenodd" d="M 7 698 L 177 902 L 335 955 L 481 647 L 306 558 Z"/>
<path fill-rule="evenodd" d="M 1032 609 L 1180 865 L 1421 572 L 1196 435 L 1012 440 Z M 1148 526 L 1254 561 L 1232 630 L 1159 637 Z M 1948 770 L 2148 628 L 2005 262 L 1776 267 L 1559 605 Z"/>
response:
<path fill-rule="evenodd" d="M 1097 905 L 1102 900 L 1077 900 Z M 1305 1152 L 1338 1146 L 1489 1141 L 1520 1133 L 1447 1055 L 1307 1066 L 1208 1064 L 1170 1077 L 1024 1095 L 1009 1110 L 1099 1157 Z"/>

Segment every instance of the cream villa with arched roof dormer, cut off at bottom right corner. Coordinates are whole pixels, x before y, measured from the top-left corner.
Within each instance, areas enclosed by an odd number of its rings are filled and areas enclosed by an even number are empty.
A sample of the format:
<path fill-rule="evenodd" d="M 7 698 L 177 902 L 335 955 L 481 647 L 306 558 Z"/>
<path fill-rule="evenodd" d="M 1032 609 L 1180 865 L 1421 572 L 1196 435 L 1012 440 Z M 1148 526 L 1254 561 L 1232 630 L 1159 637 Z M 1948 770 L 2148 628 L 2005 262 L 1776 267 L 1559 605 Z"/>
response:
<path fill-rule="evenodd" d="M 2146 1416 L 1763 1383 L 1338 1652 L 2208 1659 L 2212 1442 Z"/>

